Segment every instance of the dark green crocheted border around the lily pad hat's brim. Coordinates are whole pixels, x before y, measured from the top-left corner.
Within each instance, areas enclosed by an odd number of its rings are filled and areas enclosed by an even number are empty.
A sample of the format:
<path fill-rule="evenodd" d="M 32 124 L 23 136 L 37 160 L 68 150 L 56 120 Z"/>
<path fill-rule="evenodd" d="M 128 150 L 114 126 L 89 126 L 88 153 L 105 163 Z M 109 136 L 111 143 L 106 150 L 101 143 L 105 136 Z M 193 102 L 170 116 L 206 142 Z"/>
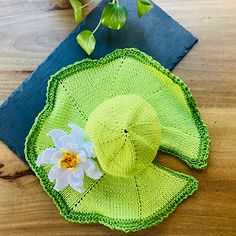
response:
<path fill-rule="evenodd" d="M 194 98 L 188 89 L 188 87 L 184 84 L 182 80 L 178 77 L 174 76 L 169 70 L 162 67 L 158 62 L 153 60 L 150 56 L 146 55 L 145 53 L 137 50 L 137 49 L 117 49 L 111 54 L 105 56 L 100 60 L 90 60 L 85 59 L 83 61 L 77 62 L 73 65 L 70 65 L 66 68 L 61 69 L 55 75 L 52 76 L 51 80 L 48 84 L 47 89 L 47 102 L 44 109 L 40 112 L 38 117 L 35 120 L 32 129 L 28 137 L 26 138 L 25 143 L 25 156 L 26 160 L 28 161 L 29 165 L 31 166 L 32 170 L 35 174 L 39 177 L 40 182 L 45 189 L 45 191 L 49 194 L 49 196 L 53 199 L 55 204 L 60 210 L 61 215 L 63 215 L 67 220 L 73 222 L 80 222 L 80 223 L 101 223 L 104 224 L 112 229 L 118 229 L 123 231 L 137 231 L 141 229 L 145 229 L 151 227 L 152 225 L 160 223 L 164 218 L 166 218 L 171 212 L 175 210 L 175 208 L 189 195 L 191 195 L 198 187 L 198 182 L 191 176 L 187 176 L 183 173 L 177 173 L 172 171 L 166 167 L 158 165 L 160 168 L 165 169 L 166 171 L 181 177 L 187 180 L 187 184 L 184 189 L 178 194 L 176 198 L 173 198 L 165 208 L 161 211 L 146 217 L 142 220 L 119 220 L 113 219 L 110 217 L 102 216 L 97 213 L 84 213 L 84 212 L 75 212 L 68 208 L 66 202 L 62 198 L 62 196 L 53 189 L 54 184 L 48 180 L 47 173 L 41 167 L 37 167 L 35 164 L 35 159 L 37 157 L 36 150 L 34 149 L 35 140 L 38 138 L 38 134 L 41 130 L 42 123 L 44 122 L 45 118 L 51 114 L 51 111 L 54 108 L 54 102 L 56 99 L 57 88 L 60 83 L 60 80 L 84 69 L 88 69 L 91 67 L 96 67 L 102 64 L 106 64 L 111 60 L 117 59 L 119 57 L 130 56 L 137 60 L 140 60 L 144 64 L 152 65 L 158 70 L 162 71 L 176 84 L 180 85 L 182 88 L 185 99 L 187 104 L 190 107 L 192 112 L 192 117 L 196 123 L 196 126 L 199 130 L 199 135 L 201 137 L 200 142 L 200 149 L 199 149 L 199 159 L 197 161 L 193 161 L 187 156 L 182 155 L 181 153 L 177 153 L 175 150 L 166 149 L 164 147 L 160 147 L 162 151 L 166 151 L 171 153 L 182 160 L 184 160 L 189 166 L 195 167 L 197 169 L 202 169 L 207 165 L 207 157 L 210 148 L 210 139 L 208 136 L 207 127 L 204 125 L 200 113 L 197 109 L 196 103 Z M 53 93 L 51 93 L 53 91 Z"/>

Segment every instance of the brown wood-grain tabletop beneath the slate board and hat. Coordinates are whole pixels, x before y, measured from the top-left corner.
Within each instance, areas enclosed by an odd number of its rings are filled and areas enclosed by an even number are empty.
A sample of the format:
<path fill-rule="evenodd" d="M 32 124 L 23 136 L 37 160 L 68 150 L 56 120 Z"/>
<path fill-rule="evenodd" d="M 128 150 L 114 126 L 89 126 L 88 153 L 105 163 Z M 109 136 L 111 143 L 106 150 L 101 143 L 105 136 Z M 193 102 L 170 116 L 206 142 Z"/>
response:
<path fill-rule="evenodd" d="M 130 234 L 236 235 L 236 1 L 156 2 L 200 39 L 174 73 L 191 88 L 212 147 L 203 171 L 160 154 L 161 164 L 195 176 L 199 189 L 160 225 Z M 72 10 L 52 7 L 50 0 L 0 1 L 0 102 L 74 26 Z M 0 235 L 124 233 L 65 221 L 38 179 L 1 143 Z"/>

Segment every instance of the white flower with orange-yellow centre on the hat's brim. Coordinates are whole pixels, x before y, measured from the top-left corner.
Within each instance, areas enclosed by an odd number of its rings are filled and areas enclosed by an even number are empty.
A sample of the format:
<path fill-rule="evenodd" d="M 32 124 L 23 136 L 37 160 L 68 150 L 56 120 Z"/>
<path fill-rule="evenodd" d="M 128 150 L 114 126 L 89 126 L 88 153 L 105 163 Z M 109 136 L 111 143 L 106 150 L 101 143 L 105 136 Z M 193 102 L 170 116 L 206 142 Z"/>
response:
<path fill-rule="evenodd" d="M 55 144 L 55 148 L 47 148 L 37 158 L 36 164 L 53 164 L 48 177 L 51 182 L 56 180 L 54 189 L 60 191 L 70 185 L 78 192 L 83 192 L 84 174 L 92 179 L 102 176 L 93 158 L 93 144 L 85 141 L 84 129 L 75 124 L 68 125 L 72 131 L 67 134 L 61 129 L 47 133 Z"/>

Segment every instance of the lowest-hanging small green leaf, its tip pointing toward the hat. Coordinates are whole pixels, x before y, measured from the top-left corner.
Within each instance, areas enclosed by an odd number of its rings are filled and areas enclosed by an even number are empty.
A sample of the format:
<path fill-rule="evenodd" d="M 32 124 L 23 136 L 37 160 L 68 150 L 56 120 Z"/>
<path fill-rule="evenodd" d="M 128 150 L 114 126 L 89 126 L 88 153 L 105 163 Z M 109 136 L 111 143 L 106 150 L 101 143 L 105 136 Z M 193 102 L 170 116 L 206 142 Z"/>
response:
<path fill-rule="evenodd" d="M 92 31 L 84 30 L 77 35 L 76 39 L 79 45 L 88 55 L 90 55 L 94 51 L 96 39 Z"/>

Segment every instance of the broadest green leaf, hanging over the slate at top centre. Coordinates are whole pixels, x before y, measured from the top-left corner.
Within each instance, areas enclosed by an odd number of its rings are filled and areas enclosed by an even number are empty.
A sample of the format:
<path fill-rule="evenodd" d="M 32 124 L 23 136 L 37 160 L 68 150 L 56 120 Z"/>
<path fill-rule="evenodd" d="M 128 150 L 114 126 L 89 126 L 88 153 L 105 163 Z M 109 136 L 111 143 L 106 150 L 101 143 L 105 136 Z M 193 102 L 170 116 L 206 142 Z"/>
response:
<path fill-rule="evenodd" d="M 127 18 L 127 10 L 125 6 L 117 3 L 108 3 L 102 13 L 101 22 L 110 29 L 121 29 Z"/>

